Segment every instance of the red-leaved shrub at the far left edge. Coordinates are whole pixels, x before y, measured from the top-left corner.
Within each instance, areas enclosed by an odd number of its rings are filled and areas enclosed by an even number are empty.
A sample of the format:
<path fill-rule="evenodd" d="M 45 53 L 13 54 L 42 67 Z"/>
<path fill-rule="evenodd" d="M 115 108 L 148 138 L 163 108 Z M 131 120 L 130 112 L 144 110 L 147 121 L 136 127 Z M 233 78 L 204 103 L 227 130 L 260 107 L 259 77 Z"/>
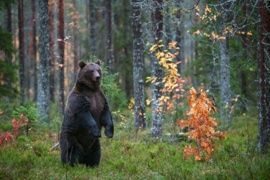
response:
<path fill-rule="evenodd" d="M 25 118 L 23 114 L 21 114 L 20 119 L 18 121 L 16 121 L 16 119 L 12 120 L 14 135 L 10 134 L 9 132 L 5 132 L 5 133 L 0 132 L 0 147 L 3 150 L 5 149 L 5 146 L 8 145 L 9 141 L 14 142 L 13 137 L 18 136 L 18 129 L 20 126 L 23 126 L 22 121 L 24 121 L 24 125 L 27 126 L 28 119 Z"/>

